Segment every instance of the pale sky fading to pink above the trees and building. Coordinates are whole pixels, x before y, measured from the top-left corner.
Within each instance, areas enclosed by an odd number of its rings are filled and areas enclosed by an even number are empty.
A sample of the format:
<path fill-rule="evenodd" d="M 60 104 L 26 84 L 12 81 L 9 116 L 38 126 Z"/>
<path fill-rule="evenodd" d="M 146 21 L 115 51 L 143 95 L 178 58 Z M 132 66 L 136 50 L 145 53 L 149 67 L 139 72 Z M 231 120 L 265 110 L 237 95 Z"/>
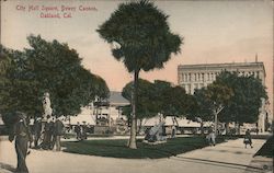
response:
<path fill-rule="evenodd" d="M 28 0 L 1 1 L 1 43 L 9 48 L 28 47 L 26 36 L 41 34 L 47 41 L 57 39 L 75 48 L 82 64 L 101 76 L 109 88 L 121 91 L 132 80 L 123 62 L 116 61 L 95 30 L 106 21 L 122 1 Z M 184 37 L 182 53 L 172 56 L 164 69 L 141 72 L 140 78 L 167 80 L 178 84 L 178 65 L 263 61 L 266 86 L 273 103 L 273 3 L 260 1 L 155 1 L 170 15 L 171 31 Z M 28 11 L 30 5 L 38 10 Z M 76 8 L 61 11 L 62 5 Z M 80 11 L 79 7 L 90 8 Z M 25 10 L 23 10 L 23 7 Z M 43 8 L 44 7 L 44 8 Z M 58 11 L 45 11 L 57 7 Z M 53 9 L 52 8 L 52 9 Z M 34 8 L 35 9 L 35 8 Z M 65 19 L 64 13 L 71 13 Z M 41 13 L 59 13 L 60 19 L 41 18 Z"/>

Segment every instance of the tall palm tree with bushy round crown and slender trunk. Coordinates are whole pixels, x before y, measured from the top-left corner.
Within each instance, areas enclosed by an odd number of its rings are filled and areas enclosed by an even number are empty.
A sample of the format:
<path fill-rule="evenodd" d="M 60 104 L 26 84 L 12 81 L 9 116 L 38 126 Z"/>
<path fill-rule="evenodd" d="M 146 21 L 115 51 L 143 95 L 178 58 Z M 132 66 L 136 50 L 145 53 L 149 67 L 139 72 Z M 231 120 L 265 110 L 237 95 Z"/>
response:
<path fill-rule="evenodd" d="M 121 3 L 111 18 L 96 30 L 112 44 L 112 54 L 134 73 L 133 116 L 129 148 L 136 149 L 136 102 L 140 70 L 163 68 L 171 54 L 180 53 L 182 37 L 170 32 L 168 15 L 152 2 Z"/>

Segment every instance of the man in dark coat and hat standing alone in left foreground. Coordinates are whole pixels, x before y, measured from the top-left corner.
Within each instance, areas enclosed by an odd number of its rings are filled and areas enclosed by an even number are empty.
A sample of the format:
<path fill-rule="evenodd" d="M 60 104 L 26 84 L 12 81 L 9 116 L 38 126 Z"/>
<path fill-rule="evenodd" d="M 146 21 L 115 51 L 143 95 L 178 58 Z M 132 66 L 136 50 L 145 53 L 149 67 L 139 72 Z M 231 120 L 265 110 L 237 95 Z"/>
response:
<path fill-rule="evenodd" d="M 15 138 L 15 150 L 18 155 L 16 173 L 28 173 L 25 159 L 27 154 L 27 142 L 33 141 L 32 134 L 26 124 L 26 115 L 21 112 L 16 112 L 18 122 L 14 124 L 13 129 L 9 136 L 9 140 L 12 142 Z"/>

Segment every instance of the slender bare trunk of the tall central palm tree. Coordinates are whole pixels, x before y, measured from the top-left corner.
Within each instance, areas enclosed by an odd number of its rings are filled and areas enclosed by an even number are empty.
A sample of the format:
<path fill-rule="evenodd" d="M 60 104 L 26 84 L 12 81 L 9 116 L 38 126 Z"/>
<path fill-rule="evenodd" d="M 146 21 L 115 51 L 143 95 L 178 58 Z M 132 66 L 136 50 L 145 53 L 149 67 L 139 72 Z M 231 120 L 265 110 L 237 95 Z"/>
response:
<path fill-rule="evenodd" d="M 136 145 L 136 132 L 137 132 L 136 105 L 137 105 L 138 78 L 139 78 L 139 70 L 135 70 L 134 71 L 132 127 L 130 127 L 130 138 L 129 138 L 129 143 L 128 143 L 128 147 L 130 149 L 137 149 L 137 145 Z"/>

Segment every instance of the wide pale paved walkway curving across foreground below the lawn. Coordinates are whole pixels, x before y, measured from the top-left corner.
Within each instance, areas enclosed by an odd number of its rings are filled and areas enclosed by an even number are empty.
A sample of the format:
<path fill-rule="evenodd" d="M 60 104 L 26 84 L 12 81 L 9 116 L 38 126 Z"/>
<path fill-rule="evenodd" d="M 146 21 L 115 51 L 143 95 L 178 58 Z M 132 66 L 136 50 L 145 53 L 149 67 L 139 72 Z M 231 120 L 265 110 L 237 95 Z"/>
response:
<path fill-rule="evenodd" d="M 92 155 L 72 154 L 32 150 L 27 157 L 30 173 L 243 173 L 253 154 L 265 140 L 254 139 L 254 148 L 244 149 L 242 139 L 229 140 L 215 147 L 167 159 L 114 159 Z M 16 165 L 14 143 L 0 141 L 1 173 L 9 173 Z M 249 168 L 261 171 L 256 166 Z"/>

